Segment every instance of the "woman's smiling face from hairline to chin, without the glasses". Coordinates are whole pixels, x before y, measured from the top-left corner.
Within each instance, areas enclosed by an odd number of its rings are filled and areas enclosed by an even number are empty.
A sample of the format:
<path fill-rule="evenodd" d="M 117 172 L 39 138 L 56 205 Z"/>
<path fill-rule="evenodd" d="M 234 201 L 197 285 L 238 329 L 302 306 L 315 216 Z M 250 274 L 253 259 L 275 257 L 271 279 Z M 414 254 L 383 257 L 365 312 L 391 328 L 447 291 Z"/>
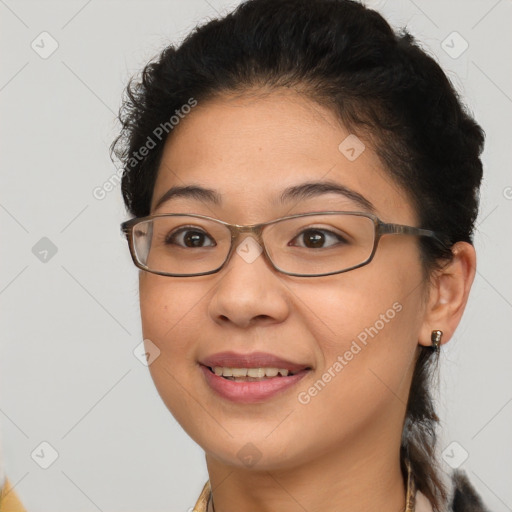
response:
<path fill-rule="evenodd" d="M 349 135 L 328 110 L 293 91 L 199 104 L 166 143 L 151 213 L 256 224 L 364 211 L 354 194 L 278 201 L 289 187 L 329 181 L 364 197 L 381 220 L 417 225 L 410 200 L 369 144 L 355 159 L 339 149 Z M 213 189 L 220 200 L 175 196 L 156 207 L 171 187 L 185 185 Z M 160 350 L 150 372 L 212 460 L 275 469 L 336 451 L 371 457 L 379 440 L 400 440 L 425 287 L 418 240 L 405 235 L 384 236 L 370 264 L 324 277 L 288 276 L 263 254 L 249 263 L 236 252 L 212 275 L 141 272 L 143 334 Z M 224 367 L 293 364 L 296 373 L 257 386 L 215 376 L 208 363 L 226 352 L 231 359 L 218 359 Z M 251 359 L 256 353 L 267 359 Z"/>

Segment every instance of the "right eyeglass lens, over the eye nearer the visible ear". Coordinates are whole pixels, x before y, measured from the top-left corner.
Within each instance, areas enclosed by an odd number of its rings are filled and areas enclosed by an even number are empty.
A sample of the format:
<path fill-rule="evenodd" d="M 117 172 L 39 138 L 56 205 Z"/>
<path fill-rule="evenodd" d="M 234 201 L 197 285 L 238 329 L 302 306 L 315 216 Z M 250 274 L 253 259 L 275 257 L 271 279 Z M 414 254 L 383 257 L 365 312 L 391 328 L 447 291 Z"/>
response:
<path fill-rule="evenodd" d="M 374 238 L 372 219 L 349 214 L 286 219 L 263 232 L 274 264 L 285 272 L 301 275 L 340 272 L 366 262 Z"/>

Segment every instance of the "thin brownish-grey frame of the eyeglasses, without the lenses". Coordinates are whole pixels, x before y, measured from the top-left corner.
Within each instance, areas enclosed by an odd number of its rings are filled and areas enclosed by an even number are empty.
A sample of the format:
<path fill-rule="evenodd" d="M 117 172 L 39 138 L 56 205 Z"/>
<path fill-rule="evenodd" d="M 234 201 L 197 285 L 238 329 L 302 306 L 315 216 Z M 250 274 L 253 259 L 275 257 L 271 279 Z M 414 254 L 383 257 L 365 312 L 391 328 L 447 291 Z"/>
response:
<path fill-rule="evenodd" d="M 308 217 L 308 216 L 318 216 L 318 215 L 353 215 L 353 216 L 359 216 L 359 217 L 367 217 L 373 222 L 374 229 L 375 229 L 375 235 L 374 235 L 374 241 L 373 241 L 373 248 L 372 252 L 368 256 L 368 258 L 363 261 L 362 263 L 359 263 L 357 265 L 353 265 L 352 267 L 338 270 L 335 272 L 326 272 L 323 274 L 297 274 L 294 272 L 287 272 L 285 270 L 282 270 L 279 268 L 271 259 L 270 255 L 267 252 L 267 249 L 265 247 L 265 243 L 263 242 L 262 233 L 263 229 L 267 226 L 271 226 L 272 224 L 276 224 L 278 222 L 282 222 L 284 220 L 288 219 L 295 219 L 297 217 Z M 134 241 L 133 241 L 133 228 L 139 223 L 139 222 L 146 222 L 158 217 L 196 217 L 199 219 L 206 219 L 211 220 L 214 222 L 217 222 L 219 224 L 222 224 L 226 226 L 230 232 L 231 232 L 231 246 L 229 248 L 229 252 L 226 256 L 226 259 L 224 262 L 217 267 L 214 270 L 210 270 L 208 272 L 200 272 L 200 273 L 194 273 L 194 274 L 173 274 L 170 272 L 162 272 L 159 270 L 151 270 L 148 267 L 146 267 L 144 264 L 142 264 L 137 259 L 137 255 L 135 253 L 135 247 L 134 247 Z M 235 241 L 238 240 L 240 235 L 242 234 L 248 234 L 253 235 L 260 246 L 263 248 L 263 254 L 265 255 L 267 261 L 272 265 L 272 267 L 277 270 L 278 272 L 281 272 L 282 274 L 286 274 L 289 276 L 296 276 L 296 277 L 322 277 L 322 276 L 330 276 L 334 274 L 343 274 L 345 272 L 349 272 L 350 270 L 355 270 L 356 268 L 364 267 L 365 265 L 368 265 L 375 256 L 375 253 L 377 251 L 377 247 L 379 245 L 379 241 L 382 236 L 384 235 L 413 235 L 413 236 L 423 236 L 428 238 L 433 238 L 436 240 L 439 244 L 441 244 L 443 247 L 448 247 L 447 244 L 443 241 L 443 234 L 432 231 L 430 229 L 423 229 L 423 228 L 417 228 L 414 226 L 406 226 L 404 224 L 393 224 L 388 222 L 381 221 L 376 215 L 373 215 L 372 213 L 368 212 L 357 212 L 357 211 L 319 211 L 319 212 L 307 212 L 307 213 L 297 213 L 294 215 L 289 215 L 286 217 L 280 217 L 278 219 L 274 219 L 268 222 L 261 222 L 259 224 L 230 224 L 228 222 L 225 222 L 220 219 L 215 219 L 214 217 L 209 217 L 207 215 L 200 215 L 197 213 L 162 213 L 162 214 L 156 214 L 156 215 L 147 215 L 145 217 L 135 217 L 133 219 L 127 220 L 123 223 L 121 223 L 121 233 L 126 236 L 128 241 L 128 246 L 130 249 L 130 255 L 132 257 L 133 263 L 136 267 L 138 267 L 141 270 L 145 270 L 146 272 L 150 272 L 152 274 L 157 274 L 160 276 L 168 276 L 168 277 L 196 277 L 196 276 L 205 276 L 210 274 L 215 274 L 222 270 L 228 261 L 231 259 L 231 255 L 233 254 L 233 250 L 235 249 Z"/>

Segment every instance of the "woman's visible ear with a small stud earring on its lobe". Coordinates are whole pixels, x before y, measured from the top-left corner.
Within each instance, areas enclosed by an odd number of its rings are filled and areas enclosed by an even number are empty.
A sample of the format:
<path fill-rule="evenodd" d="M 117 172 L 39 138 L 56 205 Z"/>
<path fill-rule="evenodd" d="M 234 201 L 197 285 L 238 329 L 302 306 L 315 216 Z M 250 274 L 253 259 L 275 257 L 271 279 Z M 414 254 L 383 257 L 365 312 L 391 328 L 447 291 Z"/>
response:
<path fill-rule="evenodd" d="M 430 346 L 434 330 L 443 331 L 441 344 L 451 339 L 462 318 L 476 272 L 475 248 L 467 242 L 452 247 L 453 259 L 431 276 L 419 344 Z"/>

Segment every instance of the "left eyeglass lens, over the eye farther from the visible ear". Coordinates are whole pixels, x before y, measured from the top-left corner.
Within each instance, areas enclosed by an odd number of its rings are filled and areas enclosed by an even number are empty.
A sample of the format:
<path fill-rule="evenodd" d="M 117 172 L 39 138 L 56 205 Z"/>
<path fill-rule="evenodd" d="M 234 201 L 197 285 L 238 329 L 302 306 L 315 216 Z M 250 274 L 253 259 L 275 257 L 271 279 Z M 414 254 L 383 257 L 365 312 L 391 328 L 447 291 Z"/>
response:
<path fill-rule="evenodd" d="M 217 269 L 224 263 L 230 243 L 226 226 L 188 215 L 156 217 L 133 228 L 137 260 L 149 270 L 169 274 Z"/>

